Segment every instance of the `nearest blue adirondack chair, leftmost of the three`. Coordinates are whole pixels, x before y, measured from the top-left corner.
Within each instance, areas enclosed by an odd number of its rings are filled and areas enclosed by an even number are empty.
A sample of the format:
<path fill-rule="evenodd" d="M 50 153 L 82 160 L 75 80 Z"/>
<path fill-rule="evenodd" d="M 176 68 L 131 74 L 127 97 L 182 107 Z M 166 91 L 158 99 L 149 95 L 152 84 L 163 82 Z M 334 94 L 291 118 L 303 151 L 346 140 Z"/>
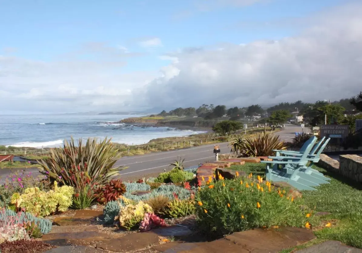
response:
<path fill-rule="evenodd" d="M 290 159 L 289 156 L 278 156 L 274 157 L 276 159 L 273 161 L 261 161 L 261 163 L 266 163 L 266 179 L 270 181 L 284 181 L 299 190 L 316 190 L 312 186 L 319 186 L 319 184 L 298 175 L 299 170 L 306 167 L 308 163 L 307 156 L 317 140 L 315 136 L 313 137 L 312 141 L 306 145 L 304 153 L 300 157 Z M 284 166 L 284 170 L 279 170 L 279 165 Z"/>

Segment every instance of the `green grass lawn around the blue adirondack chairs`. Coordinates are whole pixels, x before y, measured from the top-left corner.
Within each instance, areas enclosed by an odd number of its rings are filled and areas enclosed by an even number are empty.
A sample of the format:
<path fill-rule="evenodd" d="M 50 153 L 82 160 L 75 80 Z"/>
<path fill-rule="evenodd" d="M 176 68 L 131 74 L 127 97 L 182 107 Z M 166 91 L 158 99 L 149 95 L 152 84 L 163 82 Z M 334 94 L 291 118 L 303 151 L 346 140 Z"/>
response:
<path fill-rule="evenodd" d="M 299 245 L 293 249 L 283 250 L 283 253 L 295 249 L 306 248 L 313 244 L 328 240 L 338 240 L 350 246 L 362 248 L 362 185 L 337 174 L 331 174 L 323 168 L 314 167 L 325 176 L 331 177 L 331 184 L 323 184 L 316 191 L 302 191 L 303 202 L 317 212 L 331 213 L 322 216 L 320 224 L 312 224 L 312 230 L 317 239 Z M 262 175 L 264 164 L 233 165 L 232 170 L 243 170 L 247 173 Z M 331 223 L 331 227 L 324 227 Z"/>

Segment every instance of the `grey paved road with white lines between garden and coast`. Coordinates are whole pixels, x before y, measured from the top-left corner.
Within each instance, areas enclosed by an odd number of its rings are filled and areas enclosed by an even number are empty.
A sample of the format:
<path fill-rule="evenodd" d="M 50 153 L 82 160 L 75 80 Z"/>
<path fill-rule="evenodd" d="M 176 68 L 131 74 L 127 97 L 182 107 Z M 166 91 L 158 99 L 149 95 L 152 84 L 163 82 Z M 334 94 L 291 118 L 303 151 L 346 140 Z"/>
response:
<path fill-rule="evenodd" d="M 295 136 L 295 132 L 300 132 L 300 127 L 294 125 L 286 125 L 284 129 L 277 132 L 282 140 L 289 140 Z M 230 152 L 227 147 L 227 142 L 218 143 L 220 146 L 221 154 Z M 191 147 L 187 149 L 179 149 L 173 151 L 164 151 L 149 153 L 145 155 L 125 156 L 116 162 L 116 165 L 128 167 L 126 170 L 120 172 L 123 180 L 135 180 L 142 177 L 156 176 L 164 170 L 171 170 L 169 164 L 172 163 L 177 157 L 185 159 L 185 167 L 195 166 L 199 163 L 213 161 L 215 155 L 212 153 L 214 144 L 207 144 L 198 147 Z M 20 169 L 17 169 L 18 171 Z M 16 170 L 0 169 L 0 184 L 4 182 L 7 175 L 12 175 Z M 36 168 L 28 168 L 26 172 L 31 171 L 33 175 L 39 175 Z"/>

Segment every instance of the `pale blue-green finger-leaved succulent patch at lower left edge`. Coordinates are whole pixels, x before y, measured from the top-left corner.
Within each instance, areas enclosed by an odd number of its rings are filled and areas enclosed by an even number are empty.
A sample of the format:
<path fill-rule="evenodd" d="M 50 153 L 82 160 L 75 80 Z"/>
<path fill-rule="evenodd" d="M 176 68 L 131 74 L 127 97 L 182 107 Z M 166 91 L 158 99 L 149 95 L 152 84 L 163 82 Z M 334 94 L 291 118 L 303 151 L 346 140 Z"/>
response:
<path fill-rule="evenodd" d="M 3 208 L 0 210 L 0 221 L 14 224 L 21 224 L 22 226 L 28 223 L 34 223 L 40 230 L 41 233 L 46 234 L 51 230 L 52 221 L 49 219 L 37 218 L 31 213 L 18 212 Z"/>

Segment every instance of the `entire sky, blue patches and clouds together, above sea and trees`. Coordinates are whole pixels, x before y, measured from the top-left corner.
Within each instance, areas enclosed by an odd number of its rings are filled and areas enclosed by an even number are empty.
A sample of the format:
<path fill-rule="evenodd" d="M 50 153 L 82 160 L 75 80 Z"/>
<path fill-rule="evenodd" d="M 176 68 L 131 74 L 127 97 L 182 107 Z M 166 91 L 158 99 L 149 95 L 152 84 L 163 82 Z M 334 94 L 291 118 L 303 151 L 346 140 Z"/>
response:
<path fill-rule="evenodd" d="M 339 100 L 362 0 L 0 0 L 0 114 Z"/>

